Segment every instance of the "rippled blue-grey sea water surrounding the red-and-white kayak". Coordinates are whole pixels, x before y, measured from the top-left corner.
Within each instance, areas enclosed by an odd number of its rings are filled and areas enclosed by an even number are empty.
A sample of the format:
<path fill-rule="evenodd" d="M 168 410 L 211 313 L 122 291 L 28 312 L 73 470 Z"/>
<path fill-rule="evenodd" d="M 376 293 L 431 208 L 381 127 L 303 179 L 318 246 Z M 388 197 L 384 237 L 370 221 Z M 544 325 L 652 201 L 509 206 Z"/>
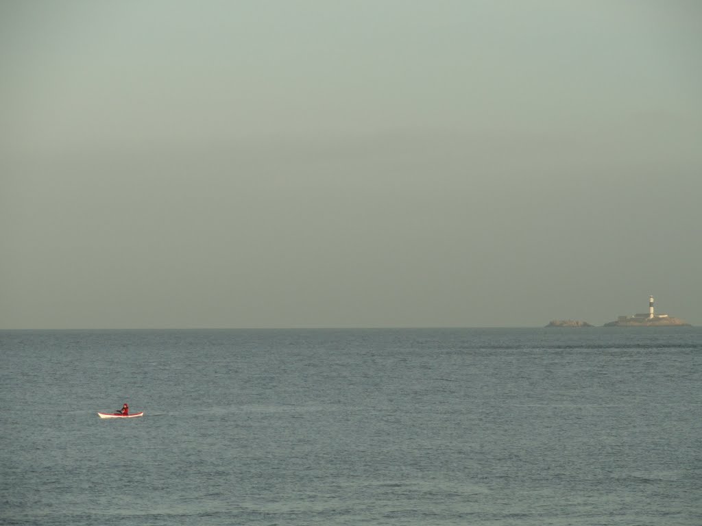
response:
<path fill-rule="evenodd" d="M 3 525 L 702 525 L 699 328 L 0 331 L 0 360 Z"/>

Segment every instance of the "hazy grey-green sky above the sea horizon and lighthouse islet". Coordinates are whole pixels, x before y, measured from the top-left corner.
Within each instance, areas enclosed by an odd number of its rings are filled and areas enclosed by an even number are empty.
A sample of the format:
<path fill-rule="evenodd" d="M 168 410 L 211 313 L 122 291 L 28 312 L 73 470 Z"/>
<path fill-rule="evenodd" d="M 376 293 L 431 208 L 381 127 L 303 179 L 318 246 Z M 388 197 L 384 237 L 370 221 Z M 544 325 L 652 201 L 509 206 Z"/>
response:
<path fill-rule="evenodd" d="M 0 328 L 702 324 L 702 3 L 0 2 Z"/>

